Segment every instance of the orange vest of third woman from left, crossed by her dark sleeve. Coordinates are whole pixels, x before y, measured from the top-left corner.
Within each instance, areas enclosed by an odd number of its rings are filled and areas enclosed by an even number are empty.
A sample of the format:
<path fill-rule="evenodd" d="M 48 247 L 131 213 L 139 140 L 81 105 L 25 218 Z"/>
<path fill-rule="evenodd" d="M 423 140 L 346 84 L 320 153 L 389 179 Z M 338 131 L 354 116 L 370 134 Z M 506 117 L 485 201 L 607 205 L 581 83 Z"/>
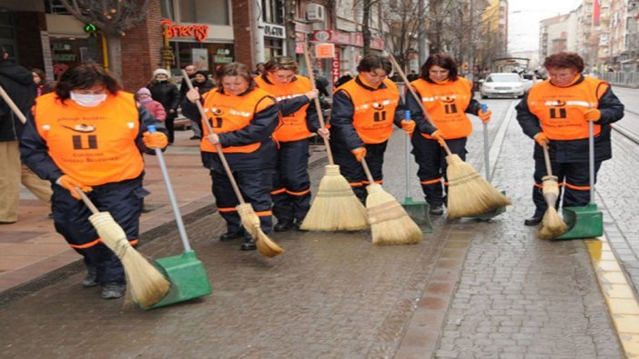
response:
<path fill-rule="evenodd" d="M 286 85 L 269 83 L 262 76 L 255 77 L 259 88 L 274 96 L 279 102 L 306 95 L 313 87 L 310 80 L 304 76 L 295 75 L 295 81 Z M 282 115 L 281 125 L 273 133 L 273 138 L 281 142 L 299 141 L 309 138 L 309 126 L 306 124 L 306 111 L 309 105 L 303 105 L 292 115 Z"/>

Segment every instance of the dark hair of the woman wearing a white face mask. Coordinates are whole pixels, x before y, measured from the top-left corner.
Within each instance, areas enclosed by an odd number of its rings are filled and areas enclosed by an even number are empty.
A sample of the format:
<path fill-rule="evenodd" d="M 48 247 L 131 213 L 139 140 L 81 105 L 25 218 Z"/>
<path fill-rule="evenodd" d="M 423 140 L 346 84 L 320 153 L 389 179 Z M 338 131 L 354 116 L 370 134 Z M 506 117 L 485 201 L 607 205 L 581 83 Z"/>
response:
<path fill-rule="evenodd" d="M 76 89 L 91 88 L 94 85 L 105 85 L 106 91 L 116 95 L 122 89 L 116 77 L 109 74 L 102 66 L 95 64 L 73 65 L 66 69 L 56 83 L 56 95 L 64 101 Z"/>

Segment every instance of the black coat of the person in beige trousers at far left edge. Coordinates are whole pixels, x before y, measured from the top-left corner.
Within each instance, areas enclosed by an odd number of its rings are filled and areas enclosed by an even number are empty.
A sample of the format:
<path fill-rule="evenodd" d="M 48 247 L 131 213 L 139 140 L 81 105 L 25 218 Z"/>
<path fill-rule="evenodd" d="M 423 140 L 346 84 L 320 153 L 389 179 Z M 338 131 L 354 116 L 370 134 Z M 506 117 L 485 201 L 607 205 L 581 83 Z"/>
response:
<path fill-rule="evenodd" d="M 0 60 L 0 85 L 14 101 L 23 115 L 28 115 L 34 105 L 36 86 L 31 71 L 9 60 Z M 0 142 L 17 141 L 25 125 L 0 97 Z"/>

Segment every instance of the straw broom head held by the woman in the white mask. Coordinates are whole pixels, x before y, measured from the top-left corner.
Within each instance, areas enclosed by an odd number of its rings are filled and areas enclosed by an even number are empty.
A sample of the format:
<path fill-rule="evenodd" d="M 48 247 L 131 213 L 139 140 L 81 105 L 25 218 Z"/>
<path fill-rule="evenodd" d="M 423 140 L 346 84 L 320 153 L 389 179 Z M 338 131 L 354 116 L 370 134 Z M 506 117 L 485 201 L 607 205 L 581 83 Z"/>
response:
<path fill-rule="evenodd" d="M 143 308 L 157 304 L 170 289 L 170 283 L 156 267 L 128 243 L 127 234 L 108 212 L 92 214 L 89 221 L 97 234 L 120 259 L 127 274 L 127 283 L 133 300 Z"/>

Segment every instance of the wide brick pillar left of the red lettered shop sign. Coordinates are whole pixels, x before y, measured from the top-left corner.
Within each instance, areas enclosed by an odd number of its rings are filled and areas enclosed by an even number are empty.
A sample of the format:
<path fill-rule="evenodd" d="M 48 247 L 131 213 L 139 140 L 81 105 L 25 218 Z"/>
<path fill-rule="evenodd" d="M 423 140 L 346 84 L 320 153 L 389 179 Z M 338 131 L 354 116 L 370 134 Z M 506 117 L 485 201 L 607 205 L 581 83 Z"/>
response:
<path fill-rule="evenodd" d="M 162 65 L 161 18 L 159 0 L 151 0 L 146 19 L 122 38 L 122 85 L 128 92 L 147 85 L 153 71 Z"/>

